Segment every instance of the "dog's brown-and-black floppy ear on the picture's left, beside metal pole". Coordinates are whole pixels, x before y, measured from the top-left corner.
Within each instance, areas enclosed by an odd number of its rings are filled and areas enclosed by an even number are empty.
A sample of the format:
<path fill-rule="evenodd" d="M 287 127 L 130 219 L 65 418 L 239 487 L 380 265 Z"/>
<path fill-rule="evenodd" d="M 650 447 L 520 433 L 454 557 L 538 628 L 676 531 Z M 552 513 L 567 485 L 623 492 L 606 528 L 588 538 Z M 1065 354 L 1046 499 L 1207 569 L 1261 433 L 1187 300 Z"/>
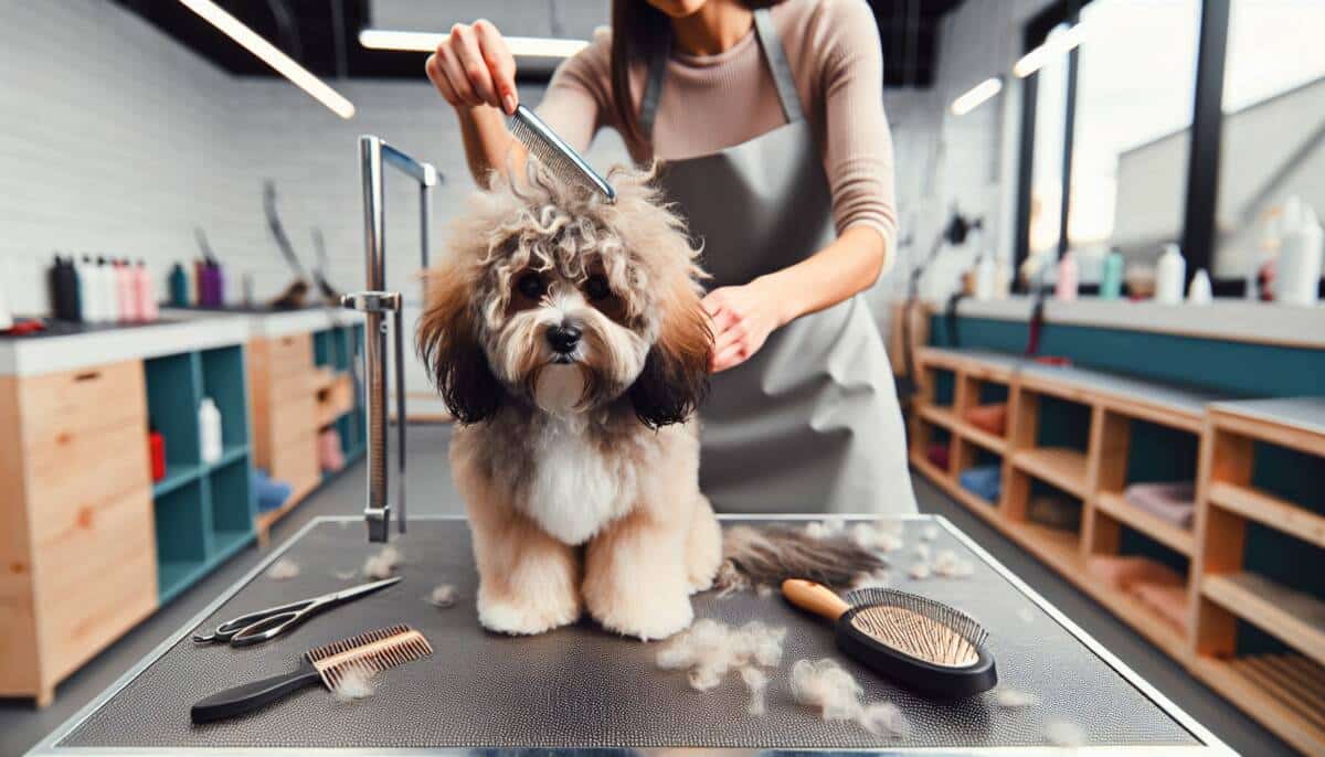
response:
<path fill-rule="evenodd" d="M 488 420 L 505 392 L 478 344 L 478 324 L 469 303 L 469 286 L 456 270 L 425 274 L 428 304 L 415 340 L 437 392 L 461 423 Z"/>

